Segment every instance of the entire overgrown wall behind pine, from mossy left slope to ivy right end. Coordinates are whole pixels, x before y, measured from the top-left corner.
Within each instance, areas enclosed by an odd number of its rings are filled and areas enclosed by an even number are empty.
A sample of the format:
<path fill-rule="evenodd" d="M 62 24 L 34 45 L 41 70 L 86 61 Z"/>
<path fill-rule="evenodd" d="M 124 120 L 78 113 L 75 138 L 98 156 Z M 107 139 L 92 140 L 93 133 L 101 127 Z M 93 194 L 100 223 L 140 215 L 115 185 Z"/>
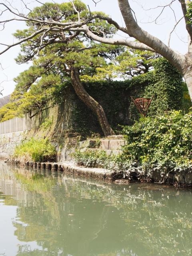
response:
<path fill-rule="evenodd" d="M 164 58 L 154 62 L 154 70 L 126 81 L 98 81 L 84 83 L 87 92 L 106 112 L 112 128 L 118 133 L 122 125 L 131 125 L 140 114 L 131 101 L 134 98 L 152 97 L 148 115 L 156 116 L 173 109 L 182 109 L 182 76 Z M 52 130 L 64 134 L 66 130 L 83 136 L 102 134 L 94 113 L 76 96 L 70 83 L 64 84 L 54 95 L 55 107 L 39 115 L 37 126 L 53 119 Z M 45 125 L 46 125 L 45 122 Z"/>

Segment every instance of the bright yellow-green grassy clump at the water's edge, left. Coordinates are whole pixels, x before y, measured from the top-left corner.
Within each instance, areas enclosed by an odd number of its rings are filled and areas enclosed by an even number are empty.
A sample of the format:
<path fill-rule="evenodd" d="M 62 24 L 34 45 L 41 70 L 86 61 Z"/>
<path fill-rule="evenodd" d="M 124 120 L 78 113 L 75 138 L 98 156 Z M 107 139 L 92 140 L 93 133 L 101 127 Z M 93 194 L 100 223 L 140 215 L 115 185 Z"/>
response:
<path fill-rule="evenodd" d="M 47 139 L 34 139 L 22 142 L 16 146 L 14 157 L 20 160 L 20 163 L 26 161 L 46 162 L 54 160 L 56 149 Z"/>

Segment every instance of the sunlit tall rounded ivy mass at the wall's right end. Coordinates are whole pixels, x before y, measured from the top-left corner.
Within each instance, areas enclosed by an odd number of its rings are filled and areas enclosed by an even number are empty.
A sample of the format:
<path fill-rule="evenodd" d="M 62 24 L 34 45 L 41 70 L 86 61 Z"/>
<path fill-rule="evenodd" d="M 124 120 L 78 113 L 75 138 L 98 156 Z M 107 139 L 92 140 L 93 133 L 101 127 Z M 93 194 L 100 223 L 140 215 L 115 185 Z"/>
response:
<path fill-rule="evenodd" d="M 155 96 L 149 115 L 163 114 L 167 110 L 182 110 L 184 88 L 180 72 L 164 58 L 156 60 L 153 66 L 154 81 L 144 89 L 145 96 Z"/>

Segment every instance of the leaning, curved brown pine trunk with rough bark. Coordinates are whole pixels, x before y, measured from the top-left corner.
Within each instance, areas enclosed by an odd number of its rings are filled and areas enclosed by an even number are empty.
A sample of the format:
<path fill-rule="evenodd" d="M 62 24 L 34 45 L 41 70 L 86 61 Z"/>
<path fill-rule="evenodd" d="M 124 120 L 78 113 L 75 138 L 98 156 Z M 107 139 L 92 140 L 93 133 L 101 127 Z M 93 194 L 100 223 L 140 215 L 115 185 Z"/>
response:
<path fill-rule="evenodd" d="M 100 123 L 104 135 L 114 135 L 115 133 L 109 125 L 109 122 L 107 120 L 106 114 L 102 106 L 98 102 L 96 102 L 96 100 L 94 100 L 94 98 L 92 98 L 84 89 L 79 77 L 78 68 L 70 68 L 72 85 L 77 96 L 97 115 L 98 121 Z"/>

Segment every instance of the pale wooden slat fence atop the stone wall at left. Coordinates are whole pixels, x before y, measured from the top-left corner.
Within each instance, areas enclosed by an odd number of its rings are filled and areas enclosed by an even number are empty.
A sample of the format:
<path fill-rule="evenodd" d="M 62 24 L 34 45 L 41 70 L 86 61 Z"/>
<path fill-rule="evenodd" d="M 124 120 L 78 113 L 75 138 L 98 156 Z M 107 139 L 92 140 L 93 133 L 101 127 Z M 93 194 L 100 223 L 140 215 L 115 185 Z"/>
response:
<path fill-rule="evenodd" d="M 27 114 L 24 117 L 16 117 L 0 122 L 0 134 L 30 130 L 34 127 L 35 116 L 30 118 Z"/>

